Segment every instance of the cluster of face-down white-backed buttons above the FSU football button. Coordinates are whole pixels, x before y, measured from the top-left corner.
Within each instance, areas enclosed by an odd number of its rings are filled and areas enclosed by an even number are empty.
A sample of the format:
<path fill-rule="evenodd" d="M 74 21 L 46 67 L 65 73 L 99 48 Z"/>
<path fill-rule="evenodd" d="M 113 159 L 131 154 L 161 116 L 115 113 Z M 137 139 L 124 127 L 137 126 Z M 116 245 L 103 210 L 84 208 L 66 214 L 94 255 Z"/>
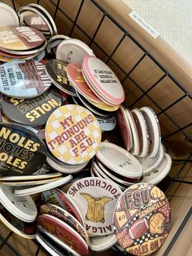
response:
<path fill-rule="evenodd" d="M 164 152 L 158 118 L 149 107 L 120 106 L 116 119 L 124 148 L 103 142 L 92 161 L 92 176 L 109 179 L 121 190 L 134 183 L 160 183 L 172 166 Z"/>

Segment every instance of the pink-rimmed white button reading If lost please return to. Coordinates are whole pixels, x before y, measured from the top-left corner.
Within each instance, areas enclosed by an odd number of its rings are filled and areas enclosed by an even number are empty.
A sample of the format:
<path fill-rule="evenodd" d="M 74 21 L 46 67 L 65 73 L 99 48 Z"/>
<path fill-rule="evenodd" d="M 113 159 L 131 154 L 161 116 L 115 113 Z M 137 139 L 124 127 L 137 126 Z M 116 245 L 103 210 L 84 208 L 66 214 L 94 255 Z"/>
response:
<path fill-rule="evenodd" d="M 106 99 L 107 103 L 112 105 L 119 105 L 124 101 L 123 86 L 107 64 L 96 57 L 85 56 L 83 68 L 89 79 L 88 86 L 91 84 L 102 99 Z"/>

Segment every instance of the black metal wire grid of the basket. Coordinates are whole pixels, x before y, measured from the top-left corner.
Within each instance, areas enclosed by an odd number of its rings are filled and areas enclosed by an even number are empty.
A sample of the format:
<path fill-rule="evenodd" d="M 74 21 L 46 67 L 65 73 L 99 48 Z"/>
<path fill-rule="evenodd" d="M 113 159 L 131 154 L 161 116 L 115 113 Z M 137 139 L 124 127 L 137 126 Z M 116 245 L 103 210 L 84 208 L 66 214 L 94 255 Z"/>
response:
<path fill-rule="evenodd" d="M 95 10 L 99 11 L 101 14 L 101 19 L 98 22 L 98 25 L 96 27 L 96 29 L 94 30 L 93 34 L 89 34 L 80 24 L 78 24 L 78 18 L 81 15 L 81 10 L 83 9 L 85 2 L 90 2 L 93 7 L 95 8 Z M 6 1 L 4 1 L 6 2 Z M 16 1 L 16 0 L 7 0 L 7 3 L 11 5 L 11 7 L 14 7 L 15 11 L 17 10 L 17 8 L 19 7 L 18 2 L 21 3 L 21 5 L 23 5 L 23 1 Z M 26 1 L 25 1 L 26 2 Z M 28 1 L 32 2 L 32 1 Z M 42 6 L 43 5 L 43 1 L 41 0 L 37 0 L 37 1 L 33 1 L 36 2 L 37 4 L 40 4 Z M 48 1 L 46 1 L 48 2 Z M 162 136 L 162 141 L 163 143 L 166 144 L 166 140 L 172 138 L 172 136 L 178 135 L 178 134 L 182 134 L 183 136 L 185 136 L 185 139 L 187 140 L 188 143 L 192 143 L 192 138 L 190 136 L 189 132 L 186 132 L 186 130 L 191 130 L 192 127 L 192 123 L 189 122 L 187 123 L 185 126 L 181 126 L 177 121 L 175 121 L 171 115 L 168 113 L 168 110 L 170 108 L 172 108 L 174 105 L 179 104 L 183 99 L 188 98 L 190 100 L 190 104 L 191 104 L 191 99 L 192 99 L 192 95 L 190 93 L 190 91 L 186 90 L 184 86 L 182 86 L 182 84 L 180 82 L 177 81 L 177 79 L 175 77 L 172 76 L 171 73 L 168 72 L 168 70 L 166 70 L 166 68 L 164 68 L 164 66 L 162 66 L 162 64 L 159 63 L 158 60 L 155 59 L 155 57 L 153 55 L 151 55 L 151 53 L 149 51 L 146 51 L 145 47 L 142 46 L 142 44 L 140 42 L 137 42 L 137 40 L 135 38 L 133 38 L 132 34 L 129 33 L 129 31 L 127 29 L 124 29 L 124 27 L 119 24 L 117 22 L 117 20 L 115 20 L 113 18 L 113 16 L 111 16 L 109 13 L 107 13 L 107 11 L 104 10 L 104 8 L 101 6 L 99 1 L 95 1 L 95 0 L 81 0 L 78 2 L 78 11 L 76 12 L 75 17 L 71 17 L 70 15 L 68 15 L 68 13 L 63 10 L 63 8 L 61 7 L 61 2 L 64 2 L 63 0 L 49 0 L 49 4 L 51 5 L 51 9 L 52 9 L 52 17 L 54 20 L 56 20 L 56 17 L 58 15 L 63 15 L 63 17 L 65 19 L 68 20 L 68 23 L 71 24 L 70 26 L 70 31 L 68 34 L 69 37 L 73 37 L 74 35 L 74 31 L 75 29 L 78 29 L 79 31 L 81 31 L 82 34 L 84 34 L 85 38 L 87 39 L 86 41 L 88 41 L 88 45 L 91 46 L 96 46 L 98 48 L 98 50 L 100 52 L 103 53 L 103 55 L 105 56 L 105 62 L 107 64 L 112 64 L 113 66 L 115 65 L 116 68 L 118 68 L 120 70 L 120 72 L 123 74 L 122 78 L 120 79 L 120 82 L 124 85 L 124 83 L 129 80 L 130 82 L 133 83 L 134 86 L 137 87 L 138 90 L 140 90 L 140 96 L 137 97 L 137 99 L 133 100 L 133 102 L 131 104 L 126 103 L 128 108 L 134 108 L 135 106 L 139 105 L 140 102 L 142 102 L 142 99 L 144 97 L 147 97 L 147 99 L 149 99 L 151 101 L 151 104 L 153 104 L 156 108 L 159 109 L 159 113 L 157 114 L 158 117 L 160 117 L 162 114 L 164 114 L 169 121 L 171 121 L 172 125 L 176 127 L 175 130 L 169 132 L 168 134 Z M 120 38 L 119 42 L 117 42 L 116 46 L 113 48 L 113 50 L 111 51 L 110 54 L 107 53 L 107 51 L 105 51 L 103 49 L 103 46 L 99 44 L 99 42 L 97 41 L 97 35 L 99 33 L 99 29 L 101 29 L 103 22 L 105 19 L 109 19 L 111 20 L 112 24 L 114 24 L 116 26 L 116 28 L 120 29 L 121 33 L 122 33 L 122 37 Z M 63 33 L 63 31 L 59 31 L 59 33 Z M 140 51 L 142 51 L 142 55 L 139 57 L 138 60 L 135 61 L 135 63 L 133 64 L 133 66 L 131 68 L 129 68 L 129 72 L 127 72 L 126 70 L 124 70 L 124 68 L 122 68 L 120 66 L 119 63 L 117 63 L 117 61 L 113 58 L 114 55 L 116 54 L 116 52 L 118 51 L 118 49 L 120 48 L 121 44 L 124 42 L 124 39 L 129 38 L 133 44 L 135 46 L 137 46 Z M 97 54 L 97 53 L 96 53 Z M 133 77 L 131 77 L 131 74 L 133 73 L 133 71 L 137 68 L 137 66 L 139 64 L 142 63 L 142 61 L 144 61 L 146 59 L 146 57 L 148 57 L 153 64 L 155 64 L 158 68 L 160 68 L 160 70 L 162 71 L 162 76 L 159 77 L 155 82 L 153 82 L 148 88 L 147 90 L 142 88 L 142 85 L 138 84 L 137 81 L 135 81 L 135 79 Z M 153 99 L 153 97 L 150 95 L 151 90 L 153 90 L 156 86 L 159 86 L 160 82 L 164 81 L 164 79 L 166 79 L 168 77 L 168 79 L 170 79 L 172 81 L 173 86 L 176 86 L 177 88 L 179 88 L 182 91 L 182 95 L 181 97 L 179 97 L 178 99 L 174 100 L 171 104 L 167 105 L 166 107 L 162 107 L 160 106 L 155 99 Z M 142 105 L 141 105 L 142 106 Z M 164 192 L 168 193 L 169 189 L 172 188 L 172 185 L 176 182 L 178 183 L 189 183 L 189 185 L 191 184 L 190 181 L 188 180 L 183 180 L 183 179 L 179 179 L 179 176 L 182 172 L 182 170 L 185 169 L 185 166 L 187 164 L 191 163 L 191 157 L 192 157 L 192 152 L 189 152 L 189 154 L 186 157 L 183 158 L 177 158 L 177 157 L 172 157 L 172 162 L 173 164 L 175 163 L 177 165 L 177 163 L 180 165 L 180 168 L 177 169 L 177 172 L 174 174 L 173 178 L 168 177 L 168 183 L 166 183 L 166 189 L 164 189 Z M 186 220 L 189 218 L 191 214 L 191 210 L 190 213 L 186 216 L 185 220 L 183 221 L 183 223 L 186 222 Z M 181 229 L 182 230 L 182 229 Z M 179 236 L 180 234 L 180 230 L 178 230 L 177 232 L 177 236 Z M 2 236 L 0 236 L 0 241 L 2 241 L 2 243 L 0 244 L 0 249 L 2 248 L 3 245 L 7 245 L 9 246 L 12 250 L 14 255 L 21 255 L 19 252 L 17 252 L 14 247 L 8 243 L 8 240 L 11 236 L 12 232 L 6 237 L 3 238 Z M 176 237 L 172 240 L 172 243 L 174 242 L 174 240 L 176 240 Z M 174 243 L 173 243 L 174 244 Z M 35 255 L 39 254 L 39 250 L 40 247 L 37 247 L 37 252 Z M 168 251 L 167 251 L 168 253 Z M 164 254 L 167 255 L 167 254 Z"/>

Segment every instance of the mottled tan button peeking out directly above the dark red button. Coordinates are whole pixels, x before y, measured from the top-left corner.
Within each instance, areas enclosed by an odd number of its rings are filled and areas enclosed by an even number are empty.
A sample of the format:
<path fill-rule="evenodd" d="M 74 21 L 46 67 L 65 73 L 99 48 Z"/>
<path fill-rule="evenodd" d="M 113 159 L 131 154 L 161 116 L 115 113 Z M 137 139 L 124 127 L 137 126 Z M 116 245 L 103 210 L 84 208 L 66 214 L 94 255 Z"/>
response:
<path fill-rule="evenodd" d="M 85 231 L 85 227 L 83 227 L 81 223 L 79 223 L 76 220 L 76 218 L 74 218 L 71 214 L 69 214 L 67 210 L 64 210 L 58 205 L 46 204 L 46 205 L 41 205 L 40 213 L 50 214 L 55 216 L 56 218 L 59 218 L 60 220 L 63 220 L 64 223 L 67 223 L 77 233 L 79 233 L 80 236 L 82 236 L 85 242 L 89 245 L 89 236 Z"/>

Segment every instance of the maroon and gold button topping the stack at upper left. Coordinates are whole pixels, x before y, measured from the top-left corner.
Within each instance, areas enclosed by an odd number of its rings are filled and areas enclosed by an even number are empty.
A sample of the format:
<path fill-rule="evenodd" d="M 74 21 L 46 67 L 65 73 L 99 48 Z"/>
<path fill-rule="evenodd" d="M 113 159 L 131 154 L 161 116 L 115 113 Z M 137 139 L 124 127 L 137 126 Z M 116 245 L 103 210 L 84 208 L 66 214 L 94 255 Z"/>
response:
<path fill-rule="evenodd" d="M 2 51 L 33 50 L 43 45 L 46 38 L 39 30 L 30 27 L 0 27 Z"/>

